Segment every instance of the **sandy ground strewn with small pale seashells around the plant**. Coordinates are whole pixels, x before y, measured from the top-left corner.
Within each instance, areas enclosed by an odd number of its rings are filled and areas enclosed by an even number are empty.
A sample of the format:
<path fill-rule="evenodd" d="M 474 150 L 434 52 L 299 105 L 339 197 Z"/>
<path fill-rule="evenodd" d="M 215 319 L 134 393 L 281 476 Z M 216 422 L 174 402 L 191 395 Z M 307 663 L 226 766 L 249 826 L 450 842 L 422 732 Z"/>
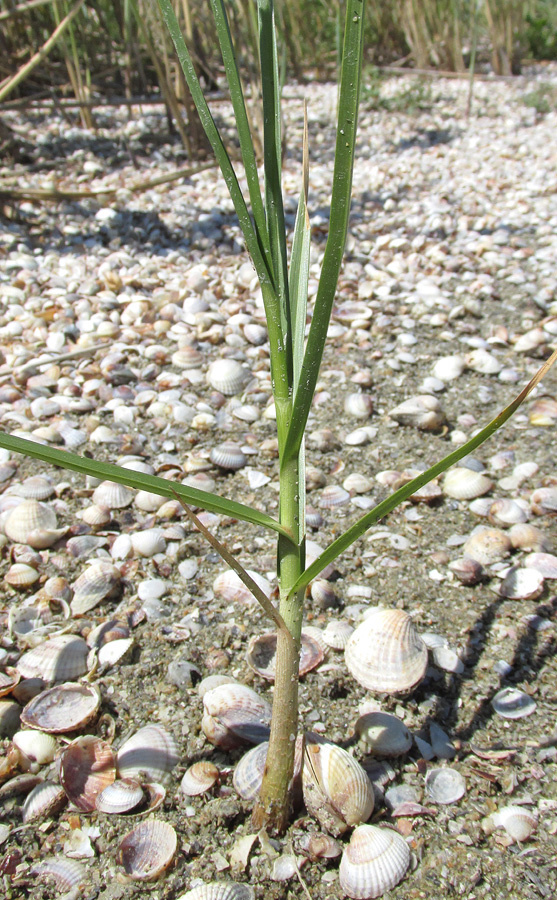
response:
<path fill-rule="evenodd" d="M 436 80 L 419 91 L 410 78 L 388 82 L 390 110 L 366 106 L 364 94 L 346 260 L 308 425 L 308 503 L 315 511 L 309 536 L 321 547 L 409 477 L 404 473 L 472 437 L 555 349 L 557 118 L 524 97 L 543 94 L 556 78 L 548 68 L 479 82 L 470 118 L 468 85 L 460 80 Z M 301 180 L 304 98 L 313 297 L 327 232 L 336 88 L 285 90 L 289 227 Z M 230 110 L 222 102 L 215 109 L 233 142 Z M 15 171 L 19 187 L 105 193 L 95 200 L 18 200 L 4 209 L 1 427 L 104 461 L 135 458 L 132 465 L 140 460 L 157 474 L 193 479 L 276 515 L 262 304 L 216 169 L 130 189 L 186 164 L 159 107 L 99 110 L 95 132 L 67 113 L 5 118 L 25 136 L 28 159 L 0 169 L 3 182 L 15 183 Z M 243 367 L 236 393 L 207 378 L 211 363 L 225 357 Z M 557 892 L 556 378 L 550 372 L 467 461 L 464 490 L 473 486 L 466 499 L 450 496 L 440 479 L 429 502 L 408 501 L 374 526 L 337 560 L 329 585 L 307 599 L 313 628 L 339 619 L 356 626 L 369 607 L 396 607 L 437 645 L 409 696 L 366 692 L 334 649 L 300 684 L 303 730 L 343 743 L 360 713 L 375 707 L 394 713 L 422 741 L 385 763 L 370 820 L 397 828 L 411 850 L 407 875 L 389 892 L 393 900 L 537 900 Z M 418 395 L 435 396 L 441 406 L 435 431 L 416 427 L 416 413 L 399 424 L 393 412 Z M 239 468 L 210 459 L 213 451 L 222 460 L 226 441 L 243 450 Z M 215 585 L 225 569 L 217 553 L 173 501 L 161 508 L 152 497 L 130 496 L 113 507 L 102 492 L 93 498 L 96 483 L 72 472 L 7 453 L 0 462 L 0 665 L 17 667 L 47 633 L 87 638 L 117 619 L 124 630 L 113 636 L 129 632 L 133 644 L 116 664 L 98 663 L 88 676 L 100 691 L 100 718 L 58 737 L 56 753 L 85 733 L 119 749 L 141 727 L 157 725 L 172 735 L 179 756 L 164 802 L 146 818 L 65 806 L 22 827 L 25 793 L 5 781 L 5 896 L 67 891 L 34 873 L 52 857 L 80 860 L 83 887 L 73 895 L 99 900 L 180 898 L 214 880 L 250 884 L 257 898 L 343 896 L 338 858 L 308 859 L 307 835 L 320 826 L 303 808 L 285 837 L 247 839 L 251 804 L 232 786 L 242 751 L 215 749 L 201 729 L 201 678 L 227 675 L 272 699 L 269 682 L 246 662 L 250 639 L 269 623 L 253 602 Z M 50 482 L 39 479 L 40 496 L 37 480 L 26 481 L 37 475 Z M 50 510 L 46 524 L 28 532 L 17 516 L 9 524 L 22 499 L 36 496 Z M 493 508 L 499 500 L 514 502 Z M 101 510 L 98 520 L 92 505 Z M 273 585 L 270 533 L 223 517 L 205 521 L 242 565 Z M 511 539 L 510 526 L 521 522 L 537 531 Z M 450 564 L 463 558 L 478 525 L 498 529 L 503 549 L 466 585 L 458 576 L 470 574 L 470 563 L 464 574 Z M 98 561 L 112 593 L 80 607 L 76 582 Z M 35 626 L 46 631 L 33 634 Z M 45 671 L 39 662 L 36 674 Z M 25 686 L 25 677 L 0 701 L 3 760 L 13 753 L 21 707 L 38 689 Z M 522 692 L 527 716 L 496 712 L 492 700 L 503 688 Z M 351 752 L 371 771 L 356 744 Z M 200 760 L 216 764 L 220 784 L 186 796 L 182 775 Z M 31 768 L 58 783 L 55 764 Z M 443 804 L 429 794 L 426 776 L 435 768 L 463 776 L 459 800 Z M 388 793 L 394 787 L 404 790 Z M 417 805 L 400 808 L 406 800 Z M 509 805 L 536 822 L 524 842 L 489 818 Z M 176 852 L 160 879 L 130 880 L 120 842 L 152 819 L 173 826 Z M 342 846 L 349 836 L 339 839 Z"/>

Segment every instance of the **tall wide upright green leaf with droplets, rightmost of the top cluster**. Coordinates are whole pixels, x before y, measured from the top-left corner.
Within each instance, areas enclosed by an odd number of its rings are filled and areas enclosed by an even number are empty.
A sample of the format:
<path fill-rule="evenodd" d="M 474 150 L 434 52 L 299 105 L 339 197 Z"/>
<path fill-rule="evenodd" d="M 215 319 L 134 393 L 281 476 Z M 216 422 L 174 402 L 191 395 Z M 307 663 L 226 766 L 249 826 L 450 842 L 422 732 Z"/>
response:
<path fill-rule="evenodd" d="M 292 411 L 284 456 L 295 456 L 311 408 L 335 298 L 350 215 L 352 172 L 360 97 L 365 0 L 347 0 L 344 51 L 338 103 L 337 138 L 329 236 L 319 278 L 302 373 Z"/>

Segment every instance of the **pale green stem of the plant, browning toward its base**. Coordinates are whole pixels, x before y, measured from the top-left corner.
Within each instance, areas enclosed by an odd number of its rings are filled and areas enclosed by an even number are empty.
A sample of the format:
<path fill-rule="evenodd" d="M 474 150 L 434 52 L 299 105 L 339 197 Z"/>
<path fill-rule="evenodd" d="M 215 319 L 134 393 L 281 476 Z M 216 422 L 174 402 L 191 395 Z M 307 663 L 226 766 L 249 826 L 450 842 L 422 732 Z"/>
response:
<path fill-rule="evenodd" d="M 277 634 L 269 750 L 259 800 L 252 817 L 255 828 L 276 832 L 283 832 L 288 825 L 289 789 L 298 731 L 298 669 L 305 591 L 298 591 L 292 597 L 289 597 L 289 592 L 305 567 L 305 540 L 300 534 L 298 515 L 301 463 L 303 454 L 290 460 L 280 475 L 280 522 L 288 522 L 287 527 L 296 536 L 296 542 L 279 537 L 279 610 L 293 640 L 289 640 L 283 631 Z"/>

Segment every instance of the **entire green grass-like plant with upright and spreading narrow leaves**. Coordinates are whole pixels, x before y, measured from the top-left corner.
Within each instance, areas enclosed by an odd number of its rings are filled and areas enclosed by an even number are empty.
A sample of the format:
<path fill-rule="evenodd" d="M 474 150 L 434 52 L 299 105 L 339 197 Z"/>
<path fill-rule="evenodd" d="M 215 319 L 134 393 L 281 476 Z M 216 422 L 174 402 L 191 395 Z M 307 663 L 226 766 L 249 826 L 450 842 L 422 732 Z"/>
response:
<path fill-rule="evenodd" d="M 257 0 L 261 84 L 263 104 L 262 182 L 250 134 L 244 95 L 224 0 L 211 0 L 217 34 L 236 119 L 240 153 L 248 187 L 246 198 L 212 118 L 195 67 L 180 32 L 171 0 L 159 0 L 164 20 L 176 47 L 203 127 L 226 180 L 244 234 L 247 250 L 257 272 L 267 317 L 271 378 L 276 405 L 280 469 L 278 519 L 217 494 L 172 484 L 108 463 L 77 456 L 6 434 L 0 446 L 45 462 L 151 491 L 178 497 L 188 515 L 213 546 L 232 565 L 253 591 L 277 626 L 277 662 L 269 759 L 259 801 L 254 810 L 256 827 L 285 829 L 289 816 L 288 785 L 294 765 L 298 722 L 298 665 L 304 597 L 309 583 L 368 528 L 387 515 L 432 478 L 462 459 L 493 434 L 517 409 L 557 357 L 547 360 L 518 397 L 489 425 L 441 462 L 367 512 L 334 540 L 308 568 L 305 564 L 305 462 L 304 432 L 317 383 L 327 329 L 348 229 L 352 172 L 363 56 L 365 0 L 346 0 L 342 67 L 338 93 L 338 122 L 330 208 L 329 234 L 323 257 L 311 326 L 306 336 L 310 224 L 308 198 L 308 141 L 304 139 L 304 162 L 298 213 L 290 253 L 283 212 L 281 185 L 281 116 L 278 55 L 273 0 Z M 279 604 L 261 594 L 246 572 L 201 525 L 190 507 L 210 510 L 274 531 L 278 537 L 277 576 Z"/>

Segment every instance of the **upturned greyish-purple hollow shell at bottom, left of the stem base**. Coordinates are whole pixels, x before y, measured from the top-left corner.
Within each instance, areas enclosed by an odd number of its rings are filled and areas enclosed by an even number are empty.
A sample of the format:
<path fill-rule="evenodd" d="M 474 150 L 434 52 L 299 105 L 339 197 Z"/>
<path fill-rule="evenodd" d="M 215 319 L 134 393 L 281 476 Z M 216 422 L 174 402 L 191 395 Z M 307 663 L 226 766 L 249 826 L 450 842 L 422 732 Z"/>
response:
<path fill-rule="evenodd" d="M 118 862 L 133 881 L 155 881 L 171 865 L 177 848 L 172 825 L 147 819 L 120 842 Z"/>

